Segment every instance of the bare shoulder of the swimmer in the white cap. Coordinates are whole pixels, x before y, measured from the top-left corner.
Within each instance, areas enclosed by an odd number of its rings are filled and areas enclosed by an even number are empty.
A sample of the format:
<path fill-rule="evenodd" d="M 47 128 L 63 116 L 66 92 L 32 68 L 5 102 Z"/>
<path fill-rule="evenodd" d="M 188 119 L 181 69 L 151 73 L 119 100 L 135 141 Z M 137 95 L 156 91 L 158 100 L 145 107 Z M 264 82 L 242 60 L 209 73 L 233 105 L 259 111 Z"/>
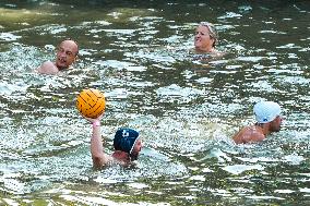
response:
<path fill-rule="evenodd" d="M 265 138 L 262 130 L 255 125 L 246 126 L 238 132 L 233 140 L 236 144 L 246 144 L 250 142 L 261 142 Z"/>

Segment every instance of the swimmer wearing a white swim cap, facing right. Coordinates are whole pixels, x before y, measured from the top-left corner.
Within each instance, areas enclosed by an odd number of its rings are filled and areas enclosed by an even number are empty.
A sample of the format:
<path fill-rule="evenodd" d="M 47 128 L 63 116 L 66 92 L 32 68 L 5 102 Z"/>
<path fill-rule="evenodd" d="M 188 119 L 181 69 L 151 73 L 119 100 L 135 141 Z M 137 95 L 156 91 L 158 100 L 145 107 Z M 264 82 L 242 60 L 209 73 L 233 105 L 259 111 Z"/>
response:
<path fill-rule="evenodd" d="M 242 128 L 233 140 L 236 144 L 261 142 L 272 132 L 278 132 L 283 118 L 281 107 L 274 101 L 260 101 L 254 105 L 253 112 L 257 123 Z"/>

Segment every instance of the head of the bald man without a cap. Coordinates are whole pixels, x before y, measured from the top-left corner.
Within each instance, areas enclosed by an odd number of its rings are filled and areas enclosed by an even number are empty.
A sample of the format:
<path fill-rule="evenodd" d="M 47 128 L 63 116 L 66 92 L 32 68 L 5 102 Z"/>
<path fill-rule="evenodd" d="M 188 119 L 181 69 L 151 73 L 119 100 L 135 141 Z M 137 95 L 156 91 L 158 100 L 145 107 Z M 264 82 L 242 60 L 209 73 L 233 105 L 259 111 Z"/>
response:
<path fill-rule="evenodd" d="M 59 70 L 68 69 L 76 60 L 78 53 L 79 46 L 74 40 L 63 40 L 58 46 L 56 66 Z"/>

